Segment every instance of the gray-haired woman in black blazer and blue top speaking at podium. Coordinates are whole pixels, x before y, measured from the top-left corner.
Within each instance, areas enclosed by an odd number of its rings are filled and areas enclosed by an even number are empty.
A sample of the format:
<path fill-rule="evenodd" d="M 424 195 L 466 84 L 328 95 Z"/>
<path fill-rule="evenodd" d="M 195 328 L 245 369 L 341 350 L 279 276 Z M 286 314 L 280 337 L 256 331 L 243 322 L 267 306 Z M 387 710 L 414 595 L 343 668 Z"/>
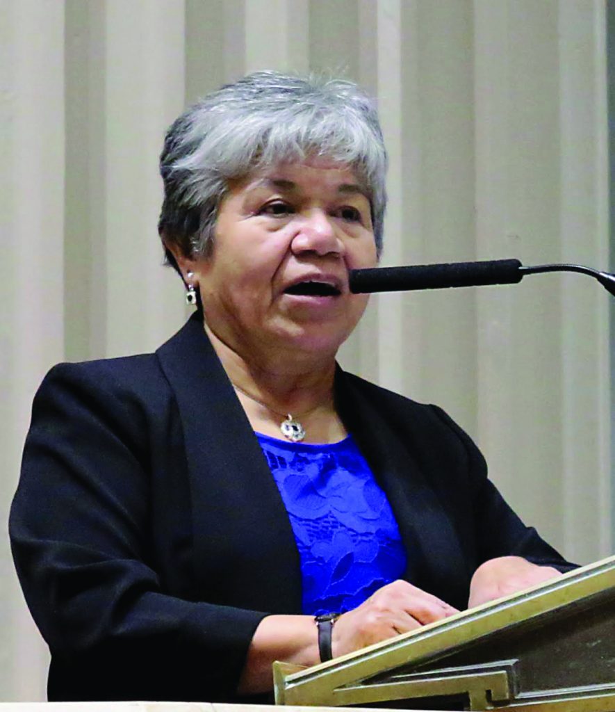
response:
<path fill-rule="evenodd" d="M 256 73 L 170 128 L 159 230 L 198 309 L 155 354 L 54 368 L 33 407 L 11 535 L 50 699 L 254 698 L 275 659 L 570 567 L 446 414 L 335 363 L 385 167 L 342 81 Z"/>

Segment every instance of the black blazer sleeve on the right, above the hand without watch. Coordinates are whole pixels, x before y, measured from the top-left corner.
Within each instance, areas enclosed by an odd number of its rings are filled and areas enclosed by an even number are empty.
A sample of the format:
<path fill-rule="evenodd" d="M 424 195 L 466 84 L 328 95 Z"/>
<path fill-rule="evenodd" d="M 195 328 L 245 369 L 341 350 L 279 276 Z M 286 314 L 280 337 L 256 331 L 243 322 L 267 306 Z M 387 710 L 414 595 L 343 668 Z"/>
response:
<path fill-rule="evenodd" d="M 577 564 L 566 561 L 533 527 L 526 526 L 487 476 L 487 465 L 473 440 L 441 408 L 431 406 L 461 440 L 466 452 L 477 566 L 499 556 L 521 556 L 561 572 Z"/>

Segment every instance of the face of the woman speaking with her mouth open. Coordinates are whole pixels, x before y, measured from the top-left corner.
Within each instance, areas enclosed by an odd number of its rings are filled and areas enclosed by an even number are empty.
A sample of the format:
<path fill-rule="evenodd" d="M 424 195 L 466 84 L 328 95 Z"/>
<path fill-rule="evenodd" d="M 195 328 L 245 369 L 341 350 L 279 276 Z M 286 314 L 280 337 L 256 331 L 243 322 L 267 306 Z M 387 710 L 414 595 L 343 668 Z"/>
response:
<path fill-rule="evenodd" d="M 211 256 L 191 265 L 209 328 L 233 350 L 335 354 L 367 305 L 349 270 L 376 264 L 369 199 L 330 159 L 263 169 L 232 187 Z"/>

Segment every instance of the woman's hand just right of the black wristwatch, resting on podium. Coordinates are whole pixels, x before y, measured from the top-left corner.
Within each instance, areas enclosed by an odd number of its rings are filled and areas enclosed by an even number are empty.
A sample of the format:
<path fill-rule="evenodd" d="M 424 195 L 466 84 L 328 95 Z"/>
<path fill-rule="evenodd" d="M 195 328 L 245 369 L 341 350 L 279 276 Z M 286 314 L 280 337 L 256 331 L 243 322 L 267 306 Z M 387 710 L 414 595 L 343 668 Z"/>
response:
<path fill-rule="evenodd" d="M 394 581 L 337 619 L 332 634 L 333 656 L 359 650 L 457 612 L 448 603 L 406 581 Z"/>

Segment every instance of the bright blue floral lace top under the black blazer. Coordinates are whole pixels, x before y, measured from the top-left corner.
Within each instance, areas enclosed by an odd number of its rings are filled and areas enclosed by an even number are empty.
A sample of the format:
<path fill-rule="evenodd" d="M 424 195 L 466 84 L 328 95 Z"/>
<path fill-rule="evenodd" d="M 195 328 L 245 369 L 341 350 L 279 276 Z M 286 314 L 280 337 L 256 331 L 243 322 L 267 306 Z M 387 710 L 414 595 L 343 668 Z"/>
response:
<path fill-rule="evenodd" d="M 300 555 L 303 612 L 345 612 L 404 574 L 387 496 L 352 436 L 312 445 L 257 433 Z"/>

